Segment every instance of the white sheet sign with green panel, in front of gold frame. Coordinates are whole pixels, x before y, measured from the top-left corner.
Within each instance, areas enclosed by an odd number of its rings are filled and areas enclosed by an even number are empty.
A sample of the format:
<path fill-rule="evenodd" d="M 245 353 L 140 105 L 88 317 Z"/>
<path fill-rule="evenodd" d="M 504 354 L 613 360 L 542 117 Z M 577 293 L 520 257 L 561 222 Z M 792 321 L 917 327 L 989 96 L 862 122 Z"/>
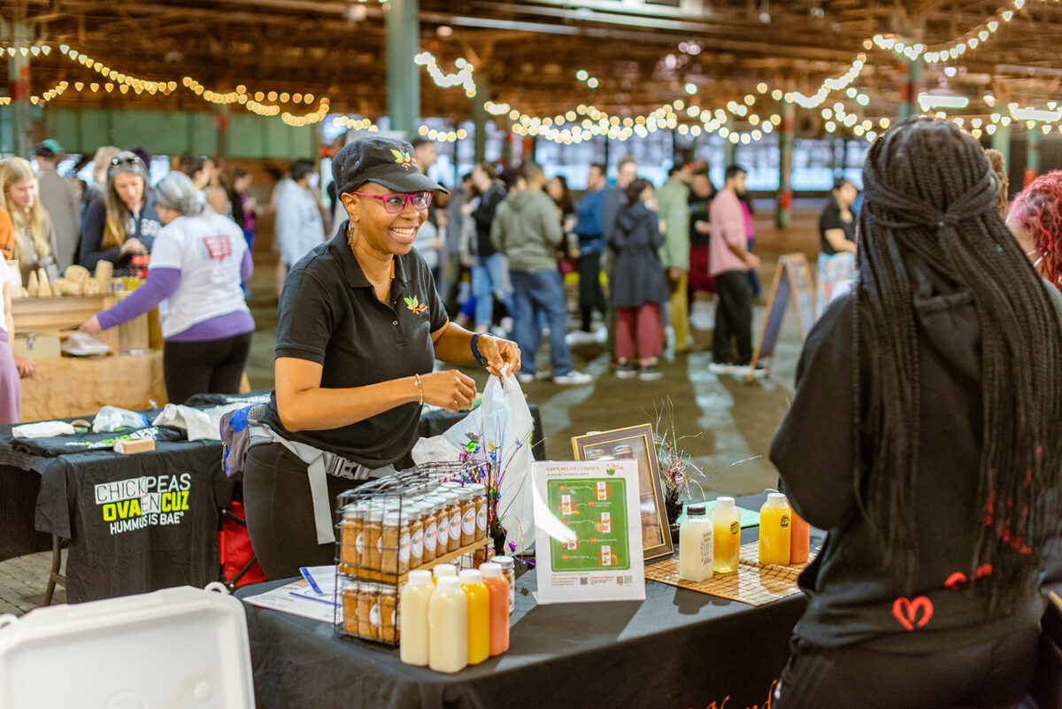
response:
<path fill-rule="evenodd" d="M 532 475 L 538 603 L 645 599 L 637 462 L 534 463 Z"/>

